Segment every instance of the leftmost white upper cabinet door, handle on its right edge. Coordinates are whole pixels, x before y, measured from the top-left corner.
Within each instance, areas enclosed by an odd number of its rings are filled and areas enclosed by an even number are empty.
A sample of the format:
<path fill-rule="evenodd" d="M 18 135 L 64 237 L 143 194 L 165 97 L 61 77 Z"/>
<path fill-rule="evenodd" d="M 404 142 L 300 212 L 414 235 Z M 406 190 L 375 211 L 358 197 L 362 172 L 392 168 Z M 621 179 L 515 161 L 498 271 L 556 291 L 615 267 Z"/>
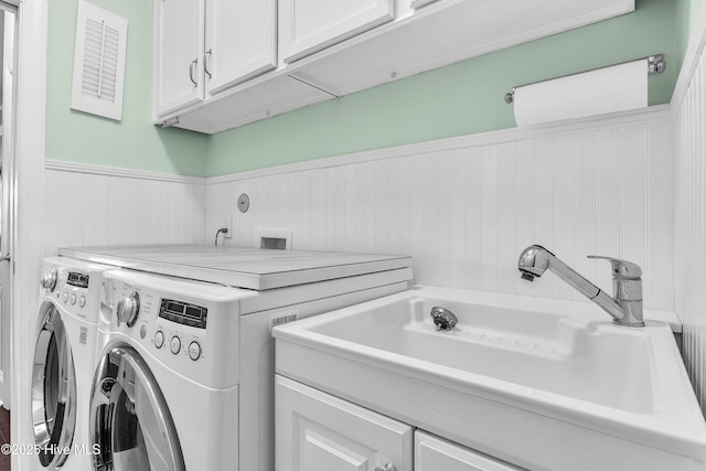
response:
<path fill-rule="evenodd" d="M 204 0 L 154 0 L 154 114 L 203 99 Z"/>

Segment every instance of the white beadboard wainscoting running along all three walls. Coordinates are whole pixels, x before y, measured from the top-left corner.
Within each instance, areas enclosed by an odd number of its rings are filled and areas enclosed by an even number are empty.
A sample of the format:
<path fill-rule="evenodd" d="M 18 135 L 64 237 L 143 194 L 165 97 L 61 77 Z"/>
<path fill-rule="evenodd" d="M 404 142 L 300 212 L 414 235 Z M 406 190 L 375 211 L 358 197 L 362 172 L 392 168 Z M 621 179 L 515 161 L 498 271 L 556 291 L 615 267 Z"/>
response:
<path fill-rule="evenodd" d="M 643 267 L 648 308 L 683 318 L 687 371 L 704 407 L 703 64 L 684 88 L 678 108 L 210 179 L 47 161 L 45 254 L 212 244 L 232 214 L 228 245 L 257 246 L 260 229 L 285 229 L 295 249 L 409 254 L 415 282 L 578 300 L 552 274 L 521 280 L 520 251 L 544 244 L 609 292 L 609 266 L 586 255 L 618 256 Z M 250 197 L 246 213 L 240 193 Z"/>

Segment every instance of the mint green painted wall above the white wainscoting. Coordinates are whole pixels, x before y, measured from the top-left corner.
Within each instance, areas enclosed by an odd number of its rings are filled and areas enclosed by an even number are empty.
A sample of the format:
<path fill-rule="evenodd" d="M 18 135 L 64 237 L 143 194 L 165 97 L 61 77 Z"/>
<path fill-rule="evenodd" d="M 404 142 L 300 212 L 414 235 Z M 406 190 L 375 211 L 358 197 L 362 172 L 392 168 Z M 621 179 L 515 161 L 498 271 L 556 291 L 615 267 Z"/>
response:
<path fill-rule="evenodd" d="M 129 22 L 122 121 L 69 109 L 78 0 L 51 0 L 46 158 L 196 176 L 512 128 L 512 86 L 657 52 L 667 72 L 649 101 L 668 103 L 703 2 L 637 0 L 627 15 L 210 137 L 151 124 L 152 1 L 90 1 Z"/>

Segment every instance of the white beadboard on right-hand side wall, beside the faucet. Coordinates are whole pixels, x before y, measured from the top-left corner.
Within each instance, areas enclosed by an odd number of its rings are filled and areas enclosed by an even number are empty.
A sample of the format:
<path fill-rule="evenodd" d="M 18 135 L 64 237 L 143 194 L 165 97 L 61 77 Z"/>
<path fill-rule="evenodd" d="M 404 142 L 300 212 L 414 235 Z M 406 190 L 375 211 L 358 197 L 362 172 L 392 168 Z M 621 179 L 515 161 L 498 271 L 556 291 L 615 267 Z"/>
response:
<path fill-rule="evenodd" d="M 684 360 L 706 414 L 706 69 L 703 44 L 688 89 L 676 108 L 676 312 L 684 323 Z M 666 278 L 665 278 L 666 279 Z"/>

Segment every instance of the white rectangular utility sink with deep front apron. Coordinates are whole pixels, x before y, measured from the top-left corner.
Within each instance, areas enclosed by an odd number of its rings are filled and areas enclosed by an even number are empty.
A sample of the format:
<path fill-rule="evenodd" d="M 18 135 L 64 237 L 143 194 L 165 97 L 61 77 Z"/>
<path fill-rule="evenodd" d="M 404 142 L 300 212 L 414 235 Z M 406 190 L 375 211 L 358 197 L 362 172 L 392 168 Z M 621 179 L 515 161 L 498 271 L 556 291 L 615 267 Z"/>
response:
<path fill-rule="evenodd" d="M 436 306 L 453 329 L 436 330 Z M 274 329 L 277 372 L 527 469 L 706 469 L 668 314 L 645 319 L 416 287 Z"/>

